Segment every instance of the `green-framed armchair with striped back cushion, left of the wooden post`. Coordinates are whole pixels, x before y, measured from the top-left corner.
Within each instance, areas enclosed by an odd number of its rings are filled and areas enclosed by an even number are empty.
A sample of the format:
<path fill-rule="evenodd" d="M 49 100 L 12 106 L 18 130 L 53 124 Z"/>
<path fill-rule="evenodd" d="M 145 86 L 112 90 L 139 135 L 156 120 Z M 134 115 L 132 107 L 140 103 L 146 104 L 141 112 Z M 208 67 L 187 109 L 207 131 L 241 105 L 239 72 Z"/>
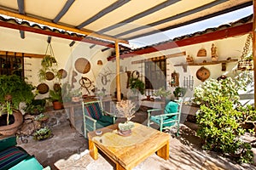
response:
<path fill-rule="evenodd" d="M 84 137 L 87 132 L 98 128 L 107 127 L 115 122 L 114 114 L 103 111 L 102 102 L 99 100 L 82 102 L 84 117 Z"/>

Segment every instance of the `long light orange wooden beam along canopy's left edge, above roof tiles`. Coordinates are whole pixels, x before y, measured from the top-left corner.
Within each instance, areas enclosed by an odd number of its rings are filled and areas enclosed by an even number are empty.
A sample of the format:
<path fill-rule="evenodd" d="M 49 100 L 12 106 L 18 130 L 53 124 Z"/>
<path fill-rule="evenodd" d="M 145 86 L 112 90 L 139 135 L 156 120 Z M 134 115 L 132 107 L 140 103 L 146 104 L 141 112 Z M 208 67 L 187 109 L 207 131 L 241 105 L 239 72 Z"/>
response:
<path fill-rule="evenodd" d="M 3 10 L 3 9 L 0 9 L 0 14 L 5 14 L 7 16 L 15 17 L 15 18 L 18 18 L 18 19 L 21 19 L 21 20 L 27 20 L 27 21 L 35 22 L 35 23 L 42 24 L 42 25 L 45 25 L 45 26 L 55 27 L 57 29 L 61 29 L 61 30 L 65 30 L 65 31 L 72 31 L 72 32 L 79 33 L 79 34 L 84 34 L 84 35 L 87 35 L 87 36 L 90 36 L 90 37 L 101 38 L 103 40 L 108 40 L 108 41 L 112 41 L 112 42 L 128 43 L 125 40 L 121 40 L 121 39 L 117 39 L 117 38 L 114 38 L 114 37 L 108 37 L 108 36 L 97 34 L 94 31 L 84 31 L 84 30 L 79 30 L 77 28 L 73 28 L 73 27 L 69 27 L 69 26 L 61 26 L 61 25 L 58 25 L 58 24 L 55 24 L 55 23 L 52 23 L 52 22 L 49 22 L 49 21 L 39 20 L 39 19 L 33 18 L 31 16 L 27 16 L 27 15 L 24 15 L 24 14 L 17 14 L 17 13 L 13 13 L 13 12 L 10 12 L 10 11 L 7 11 L 7 10 Z"/>

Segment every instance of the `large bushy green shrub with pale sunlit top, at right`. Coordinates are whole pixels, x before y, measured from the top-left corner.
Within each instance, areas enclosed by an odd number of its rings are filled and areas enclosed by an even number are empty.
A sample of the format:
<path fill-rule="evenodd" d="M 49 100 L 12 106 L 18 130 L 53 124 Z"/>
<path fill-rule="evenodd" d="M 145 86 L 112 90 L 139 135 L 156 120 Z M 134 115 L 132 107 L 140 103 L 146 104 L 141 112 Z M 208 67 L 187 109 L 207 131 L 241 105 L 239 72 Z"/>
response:
<path fill-rule="evenodd" d="M 253 106 L 242 106 L 238 90 L 246 88 L 249 78 L 226 78 L 208 80 L 195 88 L 195 102 L 201 105 L 196 116 L 199 129 L 197 135 L 203 149 L 228 155 L 237 162 L 252 162 L 251 144 L 241 140 L 245 133 L 242 125 L 256 121 Z"/>

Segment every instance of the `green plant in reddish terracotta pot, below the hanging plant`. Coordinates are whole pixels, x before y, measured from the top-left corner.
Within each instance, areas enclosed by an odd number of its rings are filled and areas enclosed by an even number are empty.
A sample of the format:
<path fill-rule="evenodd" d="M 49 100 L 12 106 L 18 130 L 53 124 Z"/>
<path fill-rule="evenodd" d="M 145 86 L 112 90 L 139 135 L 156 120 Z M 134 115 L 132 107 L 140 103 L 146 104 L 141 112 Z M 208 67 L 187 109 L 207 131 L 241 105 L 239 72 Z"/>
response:
<path fill-rule="evenodd" d="M 60 110 L 63 108 L 61 87 L 49 90 L 49 100 L 52 102 L 54 110 Z"/>

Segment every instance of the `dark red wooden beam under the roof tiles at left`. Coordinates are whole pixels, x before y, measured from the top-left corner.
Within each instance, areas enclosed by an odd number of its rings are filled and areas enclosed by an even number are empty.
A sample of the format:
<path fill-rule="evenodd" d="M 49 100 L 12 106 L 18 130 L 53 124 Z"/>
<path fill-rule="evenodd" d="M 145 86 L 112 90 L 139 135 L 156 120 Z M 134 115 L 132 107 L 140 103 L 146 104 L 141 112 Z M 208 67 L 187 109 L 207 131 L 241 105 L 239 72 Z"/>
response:
<path fill-rule="evenodd" d="M 86 37 L 71 36 L 71 35 L 68 35 L 68 34 L 63 34 L 63 33 L 55 32 L 55 31 L 42 30 L 40 28 L 31 27 L 31 26 L 22 26 L 22 25 L 18 25 L 18 24 L 15 24 L 15 23 L 5 22 L 5 21 L 0 21 L 0 26 L 7 27 L 7 28 L 12 28 L 12 29 L 16 29 L 16 30 L 30 31 L 30 32 L 43 34 L 43 35 L 48 35 L 48 36 L 53 36 L 53 37 L 66 38 L 66 39 L 79 41 L 79 42 L 80 41 L 81 42 L 88 42 L 88 43 L 102 45 L 102 46 L 109 47 L 109 48 L 114 48 L 113 43 L 98 41 L 96 39 L 90 39 L 90 38 L 86 38 Z"/>

